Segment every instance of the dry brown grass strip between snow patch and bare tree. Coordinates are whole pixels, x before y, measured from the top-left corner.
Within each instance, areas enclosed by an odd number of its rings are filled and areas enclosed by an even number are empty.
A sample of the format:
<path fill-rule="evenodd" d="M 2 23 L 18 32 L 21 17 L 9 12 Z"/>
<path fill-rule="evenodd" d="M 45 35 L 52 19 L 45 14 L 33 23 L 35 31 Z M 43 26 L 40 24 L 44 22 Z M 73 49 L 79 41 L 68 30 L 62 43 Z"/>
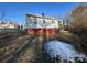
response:
<path fill-rule="evenodd" d="M 79 52 L 86 52 L 85 48 L 83 47 L 84 42 L 78 35 L 69 33 L 68 31 L 59 31 L 58 33 L 56 33 L 56 37 L 59 41 L 73 44 Z"/>

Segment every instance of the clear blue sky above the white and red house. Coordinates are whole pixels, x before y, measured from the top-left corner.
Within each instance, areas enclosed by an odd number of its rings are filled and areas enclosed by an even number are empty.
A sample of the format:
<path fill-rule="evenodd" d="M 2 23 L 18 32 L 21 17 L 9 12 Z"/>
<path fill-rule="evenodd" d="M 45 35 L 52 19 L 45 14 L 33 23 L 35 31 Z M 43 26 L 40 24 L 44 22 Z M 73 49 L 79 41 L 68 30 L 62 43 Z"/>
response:
<path fill-rule="evenodd" d="M 25 13 L 35 13 L 63 19 L 78 2 L 0 2 L 0 17 L 4 11 L 6 20 L 24 24 Z M 1 19 L 1 18 L 0 18 Z"/>

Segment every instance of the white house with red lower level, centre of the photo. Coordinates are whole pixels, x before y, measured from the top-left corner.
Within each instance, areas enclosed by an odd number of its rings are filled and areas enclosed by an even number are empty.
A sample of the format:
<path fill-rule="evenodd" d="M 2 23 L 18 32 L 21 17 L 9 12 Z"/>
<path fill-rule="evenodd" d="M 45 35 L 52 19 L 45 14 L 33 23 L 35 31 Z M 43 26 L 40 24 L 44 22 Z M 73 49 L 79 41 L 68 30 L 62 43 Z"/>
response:
<path fill-rule="evenodd" d="M 53 34 L 58 29 L 58 20 L 45 15 L 26 14 L 25 29 L 28 33 Z"/>

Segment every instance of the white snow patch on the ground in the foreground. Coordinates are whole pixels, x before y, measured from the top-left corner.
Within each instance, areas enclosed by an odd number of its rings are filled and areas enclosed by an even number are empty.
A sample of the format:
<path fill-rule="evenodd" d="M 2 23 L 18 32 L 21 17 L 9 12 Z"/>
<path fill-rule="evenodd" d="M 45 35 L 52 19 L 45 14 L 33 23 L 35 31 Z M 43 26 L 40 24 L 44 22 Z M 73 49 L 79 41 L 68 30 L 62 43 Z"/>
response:
<path fill-rule="evenodd" d="M 57 55 L 59 55 L 63 59 L 69 59 L 70 57 L 86 57 L 85 54 L 78 53 L 72 44 L 56 40 L 45 43 L 44 47 L 52 58 L 57 57 Z"/>

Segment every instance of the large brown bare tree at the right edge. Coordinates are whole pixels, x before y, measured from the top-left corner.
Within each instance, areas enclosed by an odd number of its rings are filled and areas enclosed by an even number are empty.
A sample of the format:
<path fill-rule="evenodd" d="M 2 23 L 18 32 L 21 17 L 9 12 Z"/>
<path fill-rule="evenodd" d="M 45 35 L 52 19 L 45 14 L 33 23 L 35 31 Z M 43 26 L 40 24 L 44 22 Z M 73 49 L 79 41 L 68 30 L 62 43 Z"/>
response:
<path fill-rule="evenodd" d="M 70 13 L 68 31 L 81 39 L 79 45 L 87 52 L 87 6 L 79 4 Z"/>

